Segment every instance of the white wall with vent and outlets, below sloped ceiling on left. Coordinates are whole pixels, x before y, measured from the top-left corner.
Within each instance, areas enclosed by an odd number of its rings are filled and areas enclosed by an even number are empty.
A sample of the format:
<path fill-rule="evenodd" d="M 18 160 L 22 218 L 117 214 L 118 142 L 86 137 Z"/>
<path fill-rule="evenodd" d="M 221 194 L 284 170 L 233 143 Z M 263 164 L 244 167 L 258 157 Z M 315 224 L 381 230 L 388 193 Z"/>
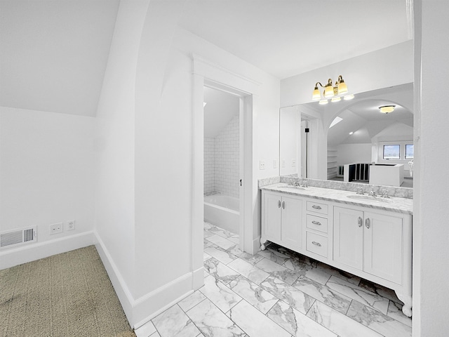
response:
<path fill-rule="evenodd" d="M 38 239 L 21 246 L 26 256 L 3 249 L 0 268 L 60 253 L 54 242 L 93 230 L 93 126 L 92 117 L 0 107 L 0 232 L 36 225 Z M 61 234 L 49 234 L 53 223 Z"/>

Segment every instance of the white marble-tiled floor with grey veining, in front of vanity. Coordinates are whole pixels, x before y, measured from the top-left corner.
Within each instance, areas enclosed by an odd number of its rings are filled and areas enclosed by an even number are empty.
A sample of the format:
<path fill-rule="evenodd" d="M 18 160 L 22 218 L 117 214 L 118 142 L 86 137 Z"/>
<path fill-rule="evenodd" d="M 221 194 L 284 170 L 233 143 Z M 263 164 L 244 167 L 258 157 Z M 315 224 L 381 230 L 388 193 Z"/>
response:
<path fill-rule="evenodd" d="M 276 244 L 250 255 L 204 223 L 204 286 L 138 337 L 410 337 L 394 291 Z"/>

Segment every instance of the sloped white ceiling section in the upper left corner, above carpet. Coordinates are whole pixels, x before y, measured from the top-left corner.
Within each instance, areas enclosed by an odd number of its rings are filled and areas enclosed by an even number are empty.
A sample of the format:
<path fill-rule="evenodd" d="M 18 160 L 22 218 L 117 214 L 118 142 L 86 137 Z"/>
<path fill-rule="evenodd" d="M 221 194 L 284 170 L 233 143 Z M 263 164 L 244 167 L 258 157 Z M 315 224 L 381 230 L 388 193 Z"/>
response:
<path fill-rule="evenodd" d="M 0 105 L 95 116 L 119 0 L 0 1 Z"/>

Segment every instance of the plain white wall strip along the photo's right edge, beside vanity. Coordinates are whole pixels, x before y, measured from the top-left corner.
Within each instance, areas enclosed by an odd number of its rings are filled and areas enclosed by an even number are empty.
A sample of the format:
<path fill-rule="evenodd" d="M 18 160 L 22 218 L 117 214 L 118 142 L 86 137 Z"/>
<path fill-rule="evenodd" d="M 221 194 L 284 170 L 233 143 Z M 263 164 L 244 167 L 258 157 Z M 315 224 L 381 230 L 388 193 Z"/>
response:
<path fill-rule="evenodd" d="M 447 102 L 435 84 L 449 77 L 448 1 L 415 0 L 415 176 L 413 336 L 449 331 Z"/>

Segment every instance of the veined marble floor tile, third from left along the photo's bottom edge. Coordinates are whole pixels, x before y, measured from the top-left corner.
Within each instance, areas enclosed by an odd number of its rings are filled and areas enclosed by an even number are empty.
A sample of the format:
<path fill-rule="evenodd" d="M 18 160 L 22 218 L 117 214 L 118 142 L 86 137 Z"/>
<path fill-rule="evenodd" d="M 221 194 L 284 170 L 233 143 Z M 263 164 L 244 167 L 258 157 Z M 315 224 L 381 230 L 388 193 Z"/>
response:
<path fill-rule="evenodd" d="M 187 316 L 206 337 L 243 337 L 246 335 L 229 317 L 218 309 L 210 300 L 203 300 Z"/>

